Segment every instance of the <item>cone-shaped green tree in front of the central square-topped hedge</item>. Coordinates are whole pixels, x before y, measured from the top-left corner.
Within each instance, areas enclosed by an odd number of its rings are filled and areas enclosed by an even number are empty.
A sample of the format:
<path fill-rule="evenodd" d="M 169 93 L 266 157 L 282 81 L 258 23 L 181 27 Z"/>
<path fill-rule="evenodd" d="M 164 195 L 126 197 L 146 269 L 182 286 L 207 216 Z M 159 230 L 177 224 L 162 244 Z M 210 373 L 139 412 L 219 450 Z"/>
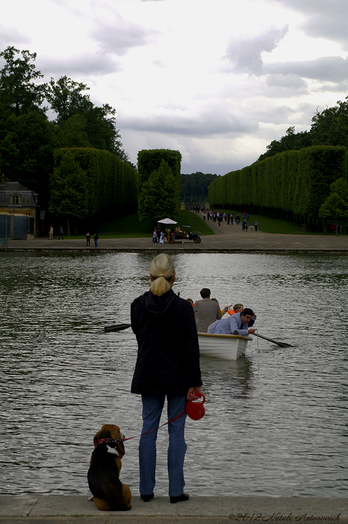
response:
<path fill-rule="evenodd" d="M 158 171 L 153 171 L 140 189 L 138 196 L 139 221 L 154 218 L 156 221 L 165 216 L 175 217 L 177 213 L 176 182 L 165 160 Z"/>

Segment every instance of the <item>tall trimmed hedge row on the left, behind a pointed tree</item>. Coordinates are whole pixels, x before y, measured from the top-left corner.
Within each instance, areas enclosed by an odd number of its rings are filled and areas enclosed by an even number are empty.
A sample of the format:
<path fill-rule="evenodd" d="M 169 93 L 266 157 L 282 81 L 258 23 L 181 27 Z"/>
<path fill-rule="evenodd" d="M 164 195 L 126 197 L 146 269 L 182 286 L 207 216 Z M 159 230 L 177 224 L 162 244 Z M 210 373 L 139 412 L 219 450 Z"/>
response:
<path fill-rule="evenodd" d="M 103 149 L 61 148 L 55 150 L 55 170 L 68 153 L 73 154 L 84 173 L 84 190 L 88 194 L 87 216 L 136 210 L 138 174 L 129 163 Z"/>

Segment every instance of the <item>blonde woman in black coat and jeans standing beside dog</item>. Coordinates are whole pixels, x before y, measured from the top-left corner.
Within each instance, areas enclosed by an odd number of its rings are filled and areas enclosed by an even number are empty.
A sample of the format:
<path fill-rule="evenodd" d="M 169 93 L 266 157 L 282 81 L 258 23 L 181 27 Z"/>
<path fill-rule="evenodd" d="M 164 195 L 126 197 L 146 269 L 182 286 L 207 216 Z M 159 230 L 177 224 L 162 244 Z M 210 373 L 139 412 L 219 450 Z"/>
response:
<path fill-rule="evenodd" d="M 132 393 L 142 395 L 143 434 L 139 442 L 140 497 L 154 497 L 156 483 L 156 438 L 167 397 L 168 420 L 185 411 L 187 400 L 195 400 L 202 384 L 199 346 L 191 304 L 173 291 L 175 269 L 172 259 L 161 253 L 150 265 L 150 290 L 131 305 L 132 329 L 137 337 L 138 356 Z M 159 329 L 158 329 L 159 326 Z M 175 329 L 169 332 L 170 327 Z M 168 424 L 168 476 L 170 502 L 187 500 L 183 492 L 183 462 L 186 412 Z"/>

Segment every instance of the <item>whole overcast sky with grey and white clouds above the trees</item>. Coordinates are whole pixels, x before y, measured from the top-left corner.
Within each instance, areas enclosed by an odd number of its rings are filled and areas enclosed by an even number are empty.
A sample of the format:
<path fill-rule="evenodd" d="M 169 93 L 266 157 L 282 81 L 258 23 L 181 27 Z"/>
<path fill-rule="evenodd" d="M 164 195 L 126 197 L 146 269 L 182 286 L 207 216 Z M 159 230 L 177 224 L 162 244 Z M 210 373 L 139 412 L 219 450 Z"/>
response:
<path fill-rule="evenodd" d="M 0 48 L 88 84 L 133 163 L 178 149 L 181 172 L 225 174 L 345 99 L 347 20 L 347 0 L 17 0 Z"/>

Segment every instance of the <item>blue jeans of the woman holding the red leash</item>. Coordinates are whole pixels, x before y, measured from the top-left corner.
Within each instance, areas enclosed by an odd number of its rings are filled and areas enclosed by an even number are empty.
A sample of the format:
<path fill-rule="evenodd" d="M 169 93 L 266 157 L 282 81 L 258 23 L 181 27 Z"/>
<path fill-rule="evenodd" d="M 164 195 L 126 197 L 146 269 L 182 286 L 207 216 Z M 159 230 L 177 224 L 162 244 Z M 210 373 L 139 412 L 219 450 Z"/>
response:
<path fill-rule="evenodd" d="M 143 431 L 158 428 L 161 412 L 165 403 L 165 396 L 146 397 L 143 401 Z M 185 397 L 168 397 L 168 420 L 177 417 L 186 406 Z M 184 439 L 186 413 L 179 419 L 168 424 L 168 476 L 169 496 L 178 497 L 183 493 L 185 481 L 183 478 L 183 461 L 187 445 Z M 139 442 L 139 490 L 142 495 L 150 495 L 156 484 L 156 439 L 157 429 L 140 437 Z"/>

